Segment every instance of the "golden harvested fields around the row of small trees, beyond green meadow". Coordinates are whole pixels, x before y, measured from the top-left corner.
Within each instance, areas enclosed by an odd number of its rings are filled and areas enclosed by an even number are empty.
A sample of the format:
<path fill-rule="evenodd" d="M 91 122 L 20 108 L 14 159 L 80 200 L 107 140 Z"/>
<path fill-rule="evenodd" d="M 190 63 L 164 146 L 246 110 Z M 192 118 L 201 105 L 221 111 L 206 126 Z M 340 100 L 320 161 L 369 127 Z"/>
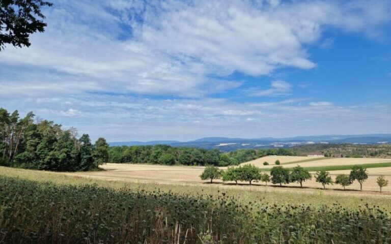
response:
<path fill-rule="evenodd" d="M 262 163 L 270 160 L 280 160 L 284 167 L 294 167 L 301 165 L 302 167 L 313 166 L 329 166 L 329 165 L 355 165 L 355 164 L 370 164 L 370 163 L 382 163 L 389 162 L 388 159 L 352 159 L 352 158 L 330 158 L 305 161 L 312 158 L 307 157 L 293 157 L 293 156 L 278 156 L 278 157 L 264 157 L 255 161 L 250 161 L 244 164 L 255 164 L 260 168 L 270 168 L 275 166 L 264 166 Z M 262 163 L 257 163 L 262 162 Z M 271 162 L 271 161 L 270 161 Z M 257 164 L 256 164 L 257 163 Z M 248 182 L 239 182 L 235 185 L 234 182 L 222 182 L 221 180 L 213 180 L 215 184 L 208 184 L 208 181 L 200 179 L 199 175 L 203 172 L 202 166 L 163 166 L 163 165 L 150 165 L 150 164 L 113 164 L 108 163 L 100 166 L 102 171 L 92 172 L 45 172 L 50 175 L 62 176 L 74 176 L 76 178 L 87 178 L 90 180 L 107 180 L 107 181 L 122 181 L 136 184 L 157 184 L 165 186 L 204 186 L 204 187 L 218 187 L 224 189 L 237 189 L 237 190 L 251 190 L 261 192 L 306 192 L 317 193 L 322 192 L 324 194 L 332 195 L 360 195 L 360 196 L 381 196 L 391 198 L 391 167 L 384 168 L 369 168 L 369 178 L 363 185 L 363 191 L 360 192 L 359 184 L 354 182 L 353 185 L 347 187 L 347 191 L 343 191 L 339 185 L 326 186 L 326 191 L 322 189 L 322 185 L 315 181 L 313 178 L 310 181 L 303 183 L 303 189 L 299 188 L 299 184 L 291 183 L 288 185 L 273 186 L 271 183 L 266 187 L 264 182 L 254 182 L 254 186 L 248 186 Z M 225 169 L 226 167 L 221 167 Z M 34 174 L 41 174 L 42 171 L 22 170 L 22 169 L 9 169 L 5 167 L 0 168 L 0 175 L 18 176 L 18 172 L 35 172 Z M 266 172 L 266 171 L 265 171 Z M 330 171 L 331 177 L 334 179 L 337 174 L 349 174 L 349 170 Z M 315 172 L 312 172 L 313 174 Z M 383 188 L 383 193 L 379 193 L 378 186 L 376 184 L 376 178 L 378 175 L 384 175 L 386 179 L 390 181 L 390 186 Z"/>

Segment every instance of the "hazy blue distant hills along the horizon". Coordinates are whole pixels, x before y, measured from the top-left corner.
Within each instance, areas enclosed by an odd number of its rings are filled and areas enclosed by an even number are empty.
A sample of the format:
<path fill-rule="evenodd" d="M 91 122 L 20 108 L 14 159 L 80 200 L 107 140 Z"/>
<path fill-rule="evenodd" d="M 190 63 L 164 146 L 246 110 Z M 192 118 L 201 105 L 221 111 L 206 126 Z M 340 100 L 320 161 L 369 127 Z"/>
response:
<path fill-rule="evenodd" d="M 191 146 L 206 149 L 217 148 L 222 151 L 231 151 L 239 148 L 288 148 L 295 145 L 315 143 L 357 143 L 357 144 L 378 144 L 391 143 L 391 134 L 365 134 L 365 135 L 319 135 L 319 136 L 297 136 L 287 138 L 228 138 L 228 137 L 205 137 L 197 140 L 180 142 L 174 140 L 160 141 L 127 141 L 110 142 L 110 146 L 131 146 L 131 145 L 156 145 L 167 144 L 172 146 Z"/>

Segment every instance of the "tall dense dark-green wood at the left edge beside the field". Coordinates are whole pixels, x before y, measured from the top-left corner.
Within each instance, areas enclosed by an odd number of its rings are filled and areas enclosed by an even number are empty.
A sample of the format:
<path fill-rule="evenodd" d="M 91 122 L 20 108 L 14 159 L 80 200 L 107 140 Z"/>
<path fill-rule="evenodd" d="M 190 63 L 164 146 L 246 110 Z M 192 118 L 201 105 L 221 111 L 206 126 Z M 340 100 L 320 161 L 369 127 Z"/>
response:
<path fill-rule="evenodd" d="M 108 160 L 108 144 L 90 136 L 77 138 L 74 128 L 63 130 L 53 121 L 23 118 L 0 108 L 0 165 L 53 171 L 88 171 Z"/>

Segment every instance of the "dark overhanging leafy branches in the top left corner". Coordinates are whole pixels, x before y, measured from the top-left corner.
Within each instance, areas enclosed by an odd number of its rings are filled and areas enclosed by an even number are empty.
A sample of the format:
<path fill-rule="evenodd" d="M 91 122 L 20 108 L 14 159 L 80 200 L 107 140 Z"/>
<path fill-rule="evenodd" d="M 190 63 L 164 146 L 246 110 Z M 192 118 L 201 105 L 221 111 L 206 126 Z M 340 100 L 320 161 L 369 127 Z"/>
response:
<path fill-rule="evenodd" d="M 42 0 L 0 0 L 0 51 L 6 44 L 30 46 L 30 34 L 44 32 L 42 8 L 52 4 Z"/>

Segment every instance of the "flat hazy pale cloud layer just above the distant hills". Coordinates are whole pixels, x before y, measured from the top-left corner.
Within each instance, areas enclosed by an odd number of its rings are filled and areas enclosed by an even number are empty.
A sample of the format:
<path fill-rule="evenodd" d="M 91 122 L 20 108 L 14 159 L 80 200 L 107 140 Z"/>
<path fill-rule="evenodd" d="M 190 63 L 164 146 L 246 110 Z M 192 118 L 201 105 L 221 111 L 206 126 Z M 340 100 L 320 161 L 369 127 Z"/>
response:
<path fill-rule="evenodd" d="M 80 135 L 89 133 L 94 140 L 103 136 L 108 141 L 364 134 L 389 133 L 390 130 L 390 105 L 297 106 L 296 102 L 153 100 L 90 94 L 23 101 L 10 98 L 2 106 L 9 110 L 19 109 L 22 115 L 33 110 L 40 117 L 54 120 L 64 128 L 76 127 Z"/>

